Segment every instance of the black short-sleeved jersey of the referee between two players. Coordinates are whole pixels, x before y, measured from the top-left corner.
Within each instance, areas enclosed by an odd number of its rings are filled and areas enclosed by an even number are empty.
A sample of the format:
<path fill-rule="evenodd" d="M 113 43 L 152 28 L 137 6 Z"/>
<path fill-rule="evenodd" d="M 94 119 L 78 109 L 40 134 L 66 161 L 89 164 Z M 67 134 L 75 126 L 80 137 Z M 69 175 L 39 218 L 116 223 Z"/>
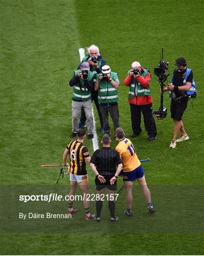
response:
<path fill-rule="evenodd" d="M 100 175 L 114 175 L 116 165 L 122 164 L 119 153 L 110 147 L 97 149 L 93 153 L 90 163 L 96 165 Z"/>

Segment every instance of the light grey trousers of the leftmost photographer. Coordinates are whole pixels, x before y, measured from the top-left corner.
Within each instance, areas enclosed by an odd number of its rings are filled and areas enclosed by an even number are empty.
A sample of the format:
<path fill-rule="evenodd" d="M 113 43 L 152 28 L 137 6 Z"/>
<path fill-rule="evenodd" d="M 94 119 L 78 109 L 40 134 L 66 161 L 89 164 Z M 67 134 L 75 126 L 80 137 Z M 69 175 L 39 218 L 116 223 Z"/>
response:
<path fill-rule="evenodd" d="M 88 134 L 93 134 L 92 100 L 72 101 L 72 131 L 74 133 L 78 131 L 78 117 L 81 113 L 81 107 L 84 107 L 85 110 Z"/>

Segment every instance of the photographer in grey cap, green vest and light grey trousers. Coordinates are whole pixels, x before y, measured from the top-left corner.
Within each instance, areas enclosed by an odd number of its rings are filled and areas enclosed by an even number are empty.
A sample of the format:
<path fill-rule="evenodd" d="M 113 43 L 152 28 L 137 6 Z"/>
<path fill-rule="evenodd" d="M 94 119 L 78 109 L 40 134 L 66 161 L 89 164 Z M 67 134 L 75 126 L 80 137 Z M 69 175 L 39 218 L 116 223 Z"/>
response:
<path fill-rule="evenodd" d="M 78 116 L 81 108 L 84 107 L 88 121 L 88 139 L 93 139 L 93 115 L 92 97 L 93 72 L 87 62 L 83 62 L 79 70 L 74 71 L 74 76 L 69 81 L 70 86 L 74 86 L 72 94 L 72 134 L 71 138 L 76 137 L 78 131 Z"/>

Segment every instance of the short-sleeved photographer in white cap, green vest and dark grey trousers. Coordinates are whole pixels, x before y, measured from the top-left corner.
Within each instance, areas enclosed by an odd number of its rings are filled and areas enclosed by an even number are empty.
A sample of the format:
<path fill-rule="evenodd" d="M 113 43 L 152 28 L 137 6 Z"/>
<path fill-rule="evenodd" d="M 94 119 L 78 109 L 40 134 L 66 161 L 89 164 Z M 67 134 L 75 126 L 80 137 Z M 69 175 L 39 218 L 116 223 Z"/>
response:
<path fill-rule="evenodd" d="M 118 109 L 118 74 L 111 72 L 110 66 L 102 67 L 102 73 L 96 75 L 94 90 L 98 90 L 98 102 L 103 119 L 103 128 L 105 134 L 110 135 L 109 113 L 113 121 L 114 129 L 119 127 L 119 109 Z"/>

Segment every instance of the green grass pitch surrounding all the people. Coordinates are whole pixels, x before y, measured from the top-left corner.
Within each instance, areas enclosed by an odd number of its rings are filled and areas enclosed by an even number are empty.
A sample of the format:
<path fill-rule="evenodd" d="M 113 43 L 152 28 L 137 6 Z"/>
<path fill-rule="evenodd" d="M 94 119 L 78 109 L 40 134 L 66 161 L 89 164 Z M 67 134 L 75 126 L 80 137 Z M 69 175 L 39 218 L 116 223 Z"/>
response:
<path fill-rule="evenodd" d="M 0 0 L 0 254 L 203 254 L 203 13 L 201 0 Z M 183 117 L 190 139 L 169 148 L 173 122 L 167 94 L 168 116 L 156 119 L 157 139 L 147 140 L 143 121 L 142 134 L 132 139 L 139 159 L 151 159 L 143 167 L 154 216 L 147 214 L 136 184 L 132 219 L 123 216 L 122 192 L 116 202 L 121 217 L 117 223 L 110 223 L 107 202 L 99 225 L 85 222 L 82 202 L 76 202 L 80 212 L 71 220 L 16 221 L 22 206 L 17 193 L 68 192 L 68 177 L 55 185 L 59 168 L 40 165 L 62 163 L 72 132 L 68 82 L 79 64 L 78 49 L 91 44 L 99 46 L 111 70 L 118 72 L 120 125 L 127 137 L 132 131 L 123 80 L 131 63 L 139 61 L 151 71 L 153 109 L 157 110 L 160 86 L 153 68 L 160 61 L 161 47 L 170 74 L 175 59 L 184 56 L 197 89 L 193 107 L 188 102 Z M 100 142 L 95 107 L 94 112 Z M 85 145 L 92 155 L 92 142 L 85 140 Z M 112 147 L 116 145 L 112 136 Z M 87 170 L 94 193 L 94 175 Z M 120 188 L 122 181 L 118 184 Z M 23 207 L 65 213 L 67 203 Z M 91 209 L 95 210 L 94 201 Z"/>

